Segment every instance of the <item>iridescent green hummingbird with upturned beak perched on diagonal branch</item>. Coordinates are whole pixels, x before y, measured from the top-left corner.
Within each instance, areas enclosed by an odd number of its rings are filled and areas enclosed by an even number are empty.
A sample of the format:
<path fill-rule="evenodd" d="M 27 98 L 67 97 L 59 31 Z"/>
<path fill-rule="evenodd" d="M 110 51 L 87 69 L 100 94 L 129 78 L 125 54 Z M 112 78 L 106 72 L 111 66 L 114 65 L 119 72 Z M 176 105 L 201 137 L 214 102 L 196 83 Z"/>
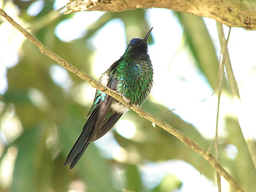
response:
<path fill-rule="evenodd" d="M 99 79 L 102 85 L 122 95 L 130 106 L 142 107 L 153 86 L 153 68 L 148 55 L 147 42 L 152 28 L 143 39 L 130 40 L 124 54 Z M 88 120 L 68 154 L 64 166 L 70 164 L 70 169 L 74 168 L 88 145 L 104 136 L 128 110 L 119 101 L 96 90 L 92 107 L 87 115 Z"/>

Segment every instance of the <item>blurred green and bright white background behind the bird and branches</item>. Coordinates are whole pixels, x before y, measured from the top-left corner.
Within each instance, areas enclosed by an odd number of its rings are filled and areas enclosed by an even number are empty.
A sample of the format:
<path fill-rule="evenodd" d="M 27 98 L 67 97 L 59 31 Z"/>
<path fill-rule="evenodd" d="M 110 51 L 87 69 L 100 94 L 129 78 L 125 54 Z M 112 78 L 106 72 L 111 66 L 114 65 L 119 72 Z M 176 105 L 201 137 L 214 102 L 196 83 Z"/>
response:
<path fill-rule="evenodd" d="M 0 0 L 0 7 L 50 50 L 96 80 L 122 56 L 131 38 L 143 38 L 154 26 L 148 40 L 154 86 L 143 109 L 210 148 L 220 55 L 215 20 L 159 8 L 64 15 L 59 9 L 67 2 Z M 228 42 L 245 115 L 252 116 L 247 128 L 252 130 L 256 130 L 255 37 L 255 31 L 232 28 Z M 1 192 L 217 191 L 216 172 L 208 162 L 133 111 L 90 144 L 74 169 L 64 168 L 94 94 L 90 84 L 41 54 L 0 18 Z M 222 166 L 245 191 L 256 191 L 256 171 L 226 79 L 219 142 Z M 210 152 L 214 154 L 214 148 Z M 222 191 L 232 191 L 225 180 Z"/>

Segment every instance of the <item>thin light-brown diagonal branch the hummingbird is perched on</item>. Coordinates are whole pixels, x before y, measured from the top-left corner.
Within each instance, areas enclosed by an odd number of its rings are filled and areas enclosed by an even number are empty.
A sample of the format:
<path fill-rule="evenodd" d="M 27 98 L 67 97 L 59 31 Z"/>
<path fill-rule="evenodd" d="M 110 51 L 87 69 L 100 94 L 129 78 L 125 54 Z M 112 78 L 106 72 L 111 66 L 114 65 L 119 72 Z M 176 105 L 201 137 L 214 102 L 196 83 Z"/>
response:
<path fill-rule="evenodd" d="M 207 160 L 212 167 L 220 174 L 222 175 L 234 188 L 236 192 L 244 192 L 242 188 L 234 181 L 232 176 L 217 162 L 217 160 L 214 158 L 214 156 L 209 153 L 208 151 L 204 150 L 202 147 L 199 146 L 198 143 L 196 143 L 194 140 L 190 139 L 189 137 L 185 136 L 180 131 L 176 130 L 163 120 L 158 119 L 156 116 L 146 112 L 145 110 L 142 110 L 141 108 L 136 108 L 133 106 L 129 106 L 124 102 L 124 99 L 121 95 L 119 95 L 114 90 L 111 90 L 102 84 L 98 83 L 96 80 L 92 79 L 90 76 L 88 76 L 86 73 L 82 72 L 78 68 L 72 66 L 70 63 L 68 63 L 66 60 L 49 50 L 46 46 L 44 46 L 39 40 L 37 40 L 32 34 L 30 34 L 28 31 L 26 31 L 22 26 L 20 26 L 18 23 L 16 23 L 10 16 L 4 12 L 0 8 L 0 15 L 2 15 L 8 22 L 10 22 L 14 28 L 18 29 L 30 42 L 32 42 L 36 47 L 39 48 L 40 52 L 42 54 L 45 54 L 46 56 L 50 57 L 52 60 L 56 61 L 58 64 L 69 70 L 70 72 L 76 74 L 78 77 L 82 78 L 86 82 L 90 83 L 93 88 L 99 89 L 106 94 L 112 96 L 116 100 L 120 101 L 125 106 L 129 107 L 136 113 L 138 113 L 141 117 L 146 118 L 150 120 L 151 122 L 155 123 L 156 125 L 160 126 L 164 130 L 168 131 L 170 134 L 174 135 L 176 138 L 178 138 L 181 142 L 183 142 L 186 146 L 200 154 L 205 160 Z"/>

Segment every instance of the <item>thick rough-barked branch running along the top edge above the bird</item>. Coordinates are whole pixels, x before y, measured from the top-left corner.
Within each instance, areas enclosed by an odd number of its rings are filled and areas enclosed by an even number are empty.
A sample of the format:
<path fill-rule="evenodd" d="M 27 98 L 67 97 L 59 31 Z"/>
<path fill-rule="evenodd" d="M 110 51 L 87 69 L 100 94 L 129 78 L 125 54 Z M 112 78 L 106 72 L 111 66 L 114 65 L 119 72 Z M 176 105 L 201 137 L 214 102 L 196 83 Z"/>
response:
<path fill-rule="evenodd" d="M 138 8 L 167 8 L 212 18 L 229 27 L 256 30 L 256 2 L 253 0 L 70 0 L 66 14 L 85 10 L 122 12 Z"/>

